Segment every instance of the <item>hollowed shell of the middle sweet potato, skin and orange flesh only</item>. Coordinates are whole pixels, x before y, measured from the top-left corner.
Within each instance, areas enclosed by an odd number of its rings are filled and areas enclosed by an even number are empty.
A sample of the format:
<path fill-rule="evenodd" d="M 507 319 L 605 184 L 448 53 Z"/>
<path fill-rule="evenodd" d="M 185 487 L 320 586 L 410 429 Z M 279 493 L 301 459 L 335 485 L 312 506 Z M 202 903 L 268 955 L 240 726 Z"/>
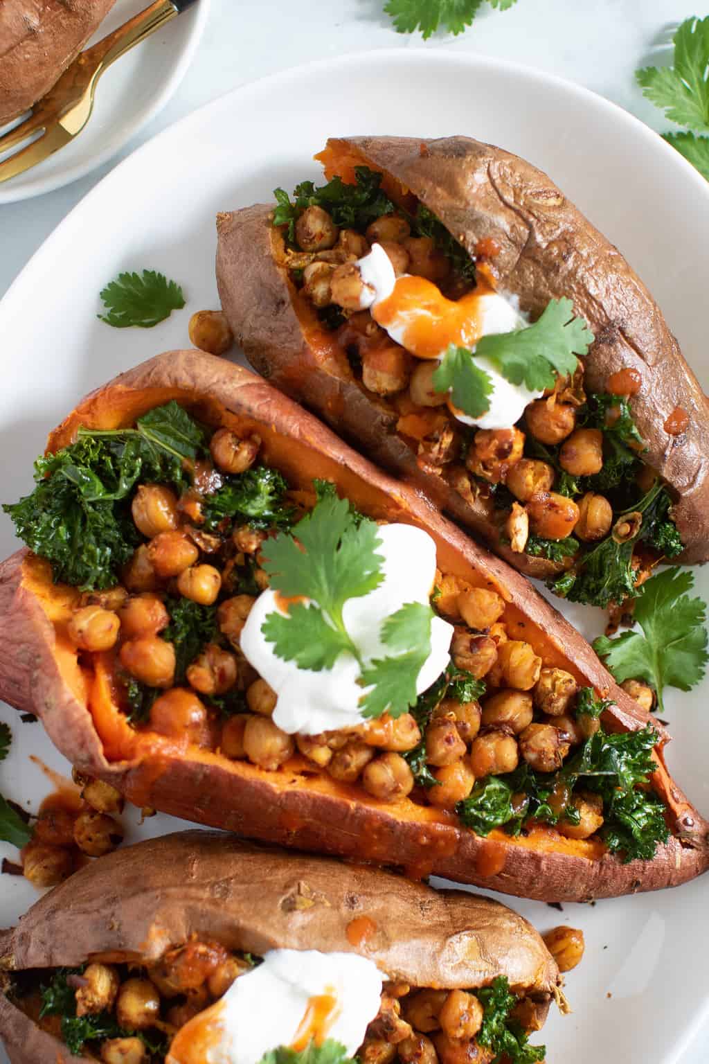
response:
<path fill-rule="evenodd" d="M 436 541 L 444 573 L 493 587 L 505 598 L 510 635 L 529 642 L 544 664 L 567 668 L 615 702 L 605 715 L 607 728 L 636 730 L 651 719 L 519 572 L 248 370 L 197 351 L 158 355 L 84 399 L 51 433 L 49 449 L 70 443 L 79 426 L 126 426 L 170 399 L 208 423 L 258 433 L 264 461 L 293 486 L 326 478 L 372 517 L 424 528 Z M 0 566 L 0 697 L 36 713 L 73 764 L 112 782 L 137 805 L 249 837 L 546 901 L 671 886 L 709 865 L 709 827 L 663 767 L 666 733 L 659 725 L 654 785 L 668 805 L 673 836 L 653 861 L 623 864 L 597 841 L 567 839 L 542 826 L 526 837 L 495 831 L 482 838 L 452 814 L 410 799 L 383 803 L 360 787 L 314 772 L 300 759 L 268 772 L 133 730 L 114 703 L 109 663 L 96 655 L 91 665 L 80 666 L 64 635 L 72 594 L 53 585 L 48 564 L 26 550 Z"/>

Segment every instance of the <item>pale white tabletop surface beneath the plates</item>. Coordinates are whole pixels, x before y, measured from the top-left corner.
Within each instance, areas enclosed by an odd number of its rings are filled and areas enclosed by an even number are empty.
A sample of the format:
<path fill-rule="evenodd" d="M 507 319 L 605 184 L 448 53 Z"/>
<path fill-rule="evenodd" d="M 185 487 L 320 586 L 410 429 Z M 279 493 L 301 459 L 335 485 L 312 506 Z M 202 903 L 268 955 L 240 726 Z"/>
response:
<path fill-rule="evenodd" d="M 325 56 L 374 48 L 425 48 L 418 35 L 401 36 L 392 30 L 383 3 L 213 0 L 212 17 L 192 67 L 172 101 L 140 136 L 90 177 L 37 199 L 0 207 L 0 296 L 56 223 L 119 159 L 202 103 L 247 81 Z M 577 81 L 663 130 L 668 123 L 643 100 L 634 70 L 666 59 L 673 26 L 693 14 L 706 14 L 698 0 L 519 0 L 505 13 L 486 5 L 466 34 L 457 38 L 439 34 L 431 44 L 523 63 Z M 336 84 L 332 92 L 337 93 Z M 367 131 L 366 114 L 361 131 Z M 560 135 L 568 136 L 573 151 L 573 130 L 560 131 Z M 229 136 L 227 129 L 224 136 Z M 100 239 L 100 235 L 91 238 Z M 675 972 L 668 979 L 668 994 L 679 993 L 680 987 L 681 974 Z M 678 1064 L 707 1064 L 708 1060 L 709 1025 Z"/>

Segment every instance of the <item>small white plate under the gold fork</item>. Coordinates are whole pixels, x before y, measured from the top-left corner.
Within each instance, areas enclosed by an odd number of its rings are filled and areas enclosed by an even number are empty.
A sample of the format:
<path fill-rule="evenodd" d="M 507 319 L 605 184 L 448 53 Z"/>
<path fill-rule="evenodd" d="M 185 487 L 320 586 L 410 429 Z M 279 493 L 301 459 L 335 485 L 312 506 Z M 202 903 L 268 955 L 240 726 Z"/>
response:
<path fill-rule="evenodd" d="M 118 0 L 88 41 L 96 44 L 133 18 L 150 0 Z M 86 129 L 44 163 L 0 184 L 0 205 L 40 196 L 90 173 L 163 110 L 191 63 L 209 12 L 199 0 L 106 70 Z M 7 127 L 9 128 L 9 127 Z M 0 129 L 0 134 L 4 128 Z"/>

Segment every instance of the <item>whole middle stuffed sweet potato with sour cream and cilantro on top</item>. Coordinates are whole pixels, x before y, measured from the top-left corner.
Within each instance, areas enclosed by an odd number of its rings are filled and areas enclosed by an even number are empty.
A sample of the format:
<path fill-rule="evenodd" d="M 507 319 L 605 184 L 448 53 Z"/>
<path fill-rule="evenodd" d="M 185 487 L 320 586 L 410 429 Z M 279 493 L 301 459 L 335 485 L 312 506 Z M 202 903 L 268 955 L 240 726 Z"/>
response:
<path fill-rule="evenodd" d="M 0 696 L 136 804 L 545 900 L 706 869 L 666 735 L 578 633 L 247 370 L 123 373 L 36 478 Z"/>

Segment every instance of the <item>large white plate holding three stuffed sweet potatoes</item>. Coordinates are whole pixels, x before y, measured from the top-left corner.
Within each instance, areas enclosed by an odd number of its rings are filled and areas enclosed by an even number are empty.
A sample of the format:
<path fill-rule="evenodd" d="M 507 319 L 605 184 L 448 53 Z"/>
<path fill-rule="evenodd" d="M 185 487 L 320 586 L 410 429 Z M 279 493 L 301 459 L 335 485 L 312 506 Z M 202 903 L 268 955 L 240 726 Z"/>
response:
<path fill-rule="evenodd" d="M 108 174 L 37 252 L 0 304 L 7 361 L 0 393 L 3 499 L 30 486 L 31 462 L 48 428 L 82 393 L 157 351 L 185 346 L 189 314 L 218 305 L 217 211 L 317 178 L 313 153 L 328 134 L 348 133 L 468 133 L 548 170 L 623 248 L 689 361 L 709 380 L 709 186 L 678 154 L 600 97 L 530 70 L 436 51 L 354 55 L 247 86 L 179 122 Z M 102 285 L 120 270 L 144 267 L 184 285 L 185 310 L 150 331 L 100 322 Z M 5 519 L 0 550 L 13 546 Z M 708 597 L 709 573 L 698 573 L 697 584 Z M 598 634 L 600 613 L 578 610 L 577 622 L 580 617 L 588 634 Z M 707 701 L 709 682 L 668 698 L 676 736 L 671 767 L 705 812 Z M 4 719 L 16 741 L 0 786 L 36 808 L 49 785 L 28 754 L 65 774 L 68 766 L 39 725 L 21 725 L 11 710 Z M 156 817 L 140 831 L 134 826 L 130 837 L 170 824 Z M 20 880 L 0 881 L 0 926 L 33 897 Z M 594 907 L 568 904 L 561 914 L 509 900 L 542 930 L 569 921 L 586 933 L 585 962 L 568 977 L 574 1014 L 553 1017 L 544 1030 L 550 1064 L 678 1064 L 708 1004 L 706 883 Z"/>

